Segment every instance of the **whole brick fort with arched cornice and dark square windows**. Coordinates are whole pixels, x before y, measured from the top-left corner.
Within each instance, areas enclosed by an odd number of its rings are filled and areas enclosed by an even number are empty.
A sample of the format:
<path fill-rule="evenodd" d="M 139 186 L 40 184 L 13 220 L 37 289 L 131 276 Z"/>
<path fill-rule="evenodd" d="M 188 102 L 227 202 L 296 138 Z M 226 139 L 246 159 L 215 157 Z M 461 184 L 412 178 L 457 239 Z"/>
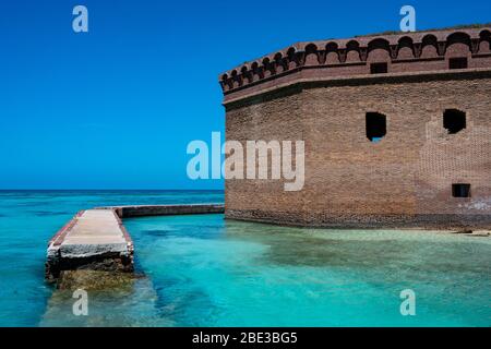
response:
<path fill-rule="evenodd" d="M 489 229 L 490 43 L 489 27 L 298 43 L 220 74 L 227 140 L 306 151 L 301 191 L 227 179 L 226 217 Z"/>

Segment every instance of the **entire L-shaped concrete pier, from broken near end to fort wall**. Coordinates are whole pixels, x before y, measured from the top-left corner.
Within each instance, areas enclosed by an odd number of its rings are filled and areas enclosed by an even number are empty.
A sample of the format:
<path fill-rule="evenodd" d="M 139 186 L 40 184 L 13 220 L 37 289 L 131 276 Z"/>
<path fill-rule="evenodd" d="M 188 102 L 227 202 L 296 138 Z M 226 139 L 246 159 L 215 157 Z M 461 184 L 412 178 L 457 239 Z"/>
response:
<path fill-rule="evenodd" d="M 223 204 L 136 205 L 81 210 L 49 241 L 46 278 L 56 281 L 73 270 L 133 272 L 133 242 L 121 218 L 221 214 L 224 210 Z"/>

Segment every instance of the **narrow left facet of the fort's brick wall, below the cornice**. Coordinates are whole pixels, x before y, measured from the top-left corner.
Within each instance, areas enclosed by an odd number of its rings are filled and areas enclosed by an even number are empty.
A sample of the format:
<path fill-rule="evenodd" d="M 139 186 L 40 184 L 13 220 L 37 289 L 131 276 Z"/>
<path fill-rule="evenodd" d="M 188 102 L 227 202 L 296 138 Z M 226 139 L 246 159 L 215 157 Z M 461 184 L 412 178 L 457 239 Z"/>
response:
<path fill-rule="evenodd" d="M 301 92 L 288 89 L 275 97 L 252 100 L 249 106 L 230 110 L 226 118 L 227 140 L 240 141 L 244 148 L 248 140 L 303 140 Z M 246 171 L 246 164 L 243 168 Z M 303 193 L 285 192 L 282 180 L 227 180 L 225 196 L 229 217 L 237 210 L 235 217 L 261 219 L 273 209 L 277 215 L 291 216 L 295 222 L 303 212 Z"/>

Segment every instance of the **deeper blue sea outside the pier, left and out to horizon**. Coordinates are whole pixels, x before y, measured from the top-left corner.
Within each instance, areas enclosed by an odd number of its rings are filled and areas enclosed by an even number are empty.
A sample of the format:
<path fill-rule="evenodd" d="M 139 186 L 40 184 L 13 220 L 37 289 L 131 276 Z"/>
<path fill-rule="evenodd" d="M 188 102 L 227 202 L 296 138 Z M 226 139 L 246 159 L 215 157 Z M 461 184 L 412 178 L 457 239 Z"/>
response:
<path fill-rule="evenodd" d="M 0 191 L 0 326 L 39 324 L 52 293 L 44 282 L 47 242 L 77 210 L 223 201 L 223 192 Z"/>

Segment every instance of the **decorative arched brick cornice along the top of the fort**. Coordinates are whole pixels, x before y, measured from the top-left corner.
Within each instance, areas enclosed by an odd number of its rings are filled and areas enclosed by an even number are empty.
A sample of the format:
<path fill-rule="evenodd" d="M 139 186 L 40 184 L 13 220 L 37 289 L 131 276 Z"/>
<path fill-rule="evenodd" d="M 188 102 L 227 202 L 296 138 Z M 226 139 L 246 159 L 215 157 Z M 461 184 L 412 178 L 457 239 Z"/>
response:
<path fill-rule="evenodd" d="M 470 61 L 481 59 L 469 68 L 491 67 L 491 28 L 480 27 L 297 43 L 220 74 L 219 83 L 227 99 L 235 92 L 254 86 L 258 89 L 263 83 L 302 70 L 322 70 L 322 76 L 349 77 L 370 74 L 366 65 L 375 61 L 397 64 L 398 72 L 447 70 L 445 64 L 435 67 L 432 62 L 455 57 L 450 52 L 454 45 L 458 48 L 457 56 L 466 55 Z M 310 76 L 316 77 L 314 72 Z M 272 83 L 267 85 L 271 88 Z"/>

